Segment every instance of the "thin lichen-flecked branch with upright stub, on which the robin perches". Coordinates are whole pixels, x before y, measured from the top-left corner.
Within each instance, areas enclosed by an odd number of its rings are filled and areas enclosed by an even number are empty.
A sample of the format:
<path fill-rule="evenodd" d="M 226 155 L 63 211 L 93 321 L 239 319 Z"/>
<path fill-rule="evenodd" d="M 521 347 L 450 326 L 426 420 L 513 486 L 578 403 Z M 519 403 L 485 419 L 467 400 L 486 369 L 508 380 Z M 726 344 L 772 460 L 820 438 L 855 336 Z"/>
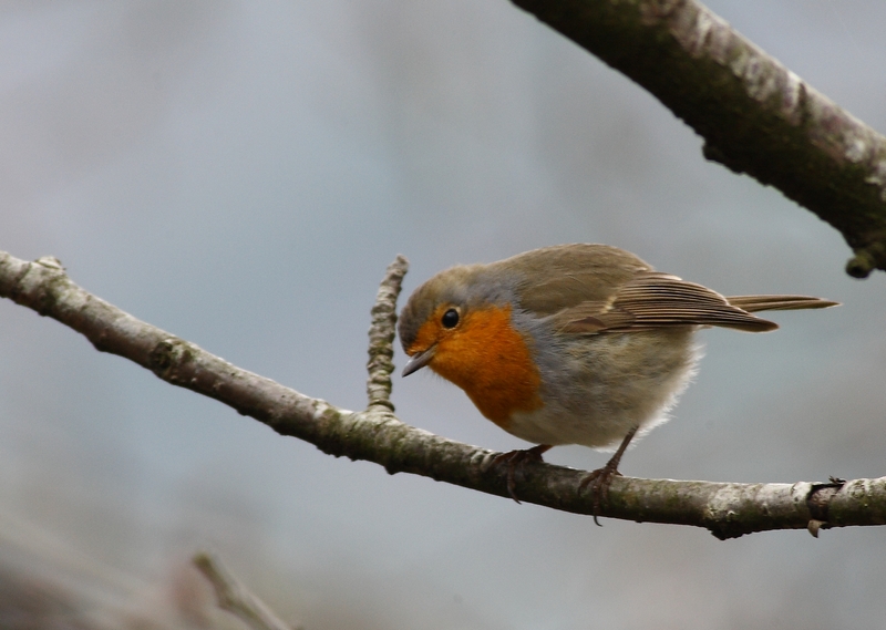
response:
<path fill-rule="evenodd" d="M 324 453 L 374 462 L 391 474 L 412 473 L 507 497 L 506 466 L 493 464 L 496 453 L 409 426 L 390 411 L 393 313 L 405 270 L 406 260 L 398 257 L 379 290 L 371 329 L 370 406 L 363 412 L 339 409 L 240 370 L 140 321 L 75 285 L 52 257 L 27 262 L 0 251 L 0 297 L 76 330 L 102 352 L 130 359 L 168 383 L 213 397 Z M 522 473 L 522 500 L 594 513 L 591 496 L 578 489 L 584 471 L 527 463 Z M 705 527 L 721 539 L 769 529 L 808 528 L 817 534 L 820 528 L 886 524 L 886 477 L 825 484 L 616 477 L 599 516 Z"/>

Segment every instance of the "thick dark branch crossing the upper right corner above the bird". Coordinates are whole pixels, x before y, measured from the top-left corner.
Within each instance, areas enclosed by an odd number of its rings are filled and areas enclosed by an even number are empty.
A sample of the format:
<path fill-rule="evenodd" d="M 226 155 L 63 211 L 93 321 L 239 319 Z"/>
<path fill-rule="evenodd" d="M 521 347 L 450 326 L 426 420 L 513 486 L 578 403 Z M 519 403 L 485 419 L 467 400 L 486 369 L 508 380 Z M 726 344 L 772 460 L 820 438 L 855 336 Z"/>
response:
<path fill-rule="evenodd" d="M 843 234 L 846 271 L 886 270 L 886 138 L 694 0 L 512 0 L 651 92 L 704 156 Z"/>

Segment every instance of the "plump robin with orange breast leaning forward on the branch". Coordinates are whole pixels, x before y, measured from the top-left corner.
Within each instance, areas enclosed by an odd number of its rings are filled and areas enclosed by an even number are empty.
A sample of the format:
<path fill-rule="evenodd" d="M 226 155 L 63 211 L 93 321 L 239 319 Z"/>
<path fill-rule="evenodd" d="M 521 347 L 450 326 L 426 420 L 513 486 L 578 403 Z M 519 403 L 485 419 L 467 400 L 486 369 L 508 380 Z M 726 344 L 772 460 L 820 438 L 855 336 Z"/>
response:
<path fill-rule="evenodd" d="M 508 465 L 515 500 L 515 467 L 552 446 L 618 445 L 580 483 L 593 484 L 596 513 L 631 440 L 664 422 L 689 384 L 699 328 L 766 332 L 777 326 L 753 312 L 836 304 L 727 298 L 617 247 L 575 244 L 441 271 L 412 293 L 398 331 L 411 358 L 404 376 L 430 368 L 488 420 L 537 444 L 495 459 Z"/>

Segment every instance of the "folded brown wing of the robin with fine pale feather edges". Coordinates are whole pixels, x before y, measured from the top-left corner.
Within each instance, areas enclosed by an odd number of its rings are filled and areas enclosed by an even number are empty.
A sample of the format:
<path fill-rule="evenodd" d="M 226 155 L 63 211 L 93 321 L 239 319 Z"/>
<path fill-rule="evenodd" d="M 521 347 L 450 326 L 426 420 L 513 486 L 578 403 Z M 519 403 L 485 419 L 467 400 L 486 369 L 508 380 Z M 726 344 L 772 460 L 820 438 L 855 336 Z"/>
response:
<path fill-rule="evenodd" d="M 598 309 L 596 312 L 595 309 Z M 774 322 L 732 306 L 701 285 L 657 271 L 640 271 L 616 292 L 609 306 L 590 301 L 554 316 L 560 330 L 576 333 L 627 332 L 672 326 L 720 326 L 749 332 L 775 330 Z"/>

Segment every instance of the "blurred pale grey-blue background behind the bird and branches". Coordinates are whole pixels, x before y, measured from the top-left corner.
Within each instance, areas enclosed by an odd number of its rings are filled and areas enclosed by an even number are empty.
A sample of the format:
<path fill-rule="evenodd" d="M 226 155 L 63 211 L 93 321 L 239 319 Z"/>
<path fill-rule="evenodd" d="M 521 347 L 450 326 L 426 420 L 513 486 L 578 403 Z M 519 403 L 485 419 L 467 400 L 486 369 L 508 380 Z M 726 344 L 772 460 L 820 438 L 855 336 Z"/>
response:
<path fill-rule="evenodd" d="M 886 3 L 709 6 L 886 131 Z M 241 368 L 362 409 L 369 309 L 394 255 L 411 260 L 408 295 L 456 262 L 607 242 L 724 293 L 844 303 L 774 313 L 772 334 L 703 332 L 696 383 L 625 474 L 886 474 L 886 276 L 848 278 L 834 229 L 707 163 L 643 90 L 505 0 L 7 1 L 0 51 L 0 249 L 54 255 Z M 224 624 L 175 612 L 212 607 L 186 565 L 198 549 L 308 630 L 886 616 L 883 528 L 721 543 L 595 527 L 329 457 L 8 300 L 0 322 L 3 628 L 42 601 L 48 628 Z M 394 402 L 447 437 L 526 446 L 429 373 L 398 375 Z"/>

